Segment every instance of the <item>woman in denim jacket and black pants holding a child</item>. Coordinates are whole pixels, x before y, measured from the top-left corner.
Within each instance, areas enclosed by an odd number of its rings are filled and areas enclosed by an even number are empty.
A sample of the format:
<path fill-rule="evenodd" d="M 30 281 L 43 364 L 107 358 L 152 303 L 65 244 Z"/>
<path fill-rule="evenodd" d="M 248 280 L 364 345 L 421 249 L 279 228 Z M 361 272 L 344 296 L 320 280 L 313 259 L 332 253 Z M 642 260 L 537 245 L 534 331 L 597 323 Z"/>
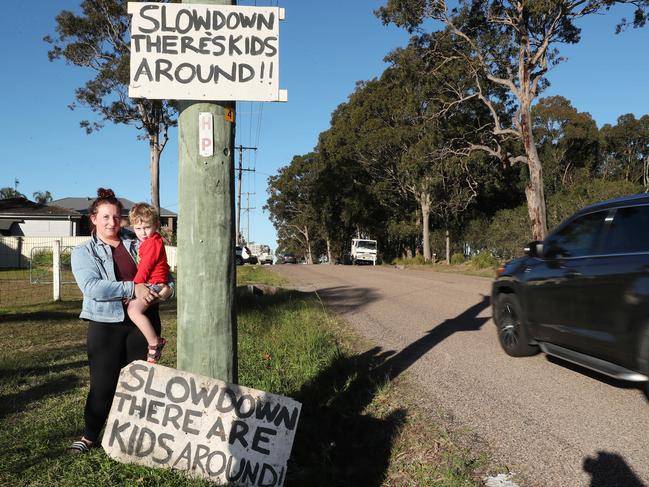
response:
<path fill-rule="evenodd" d="M 85 430 L 68 448 L 70 453 L 85 453 L 96 444 L 108 418 L 120 370 L 134 360 L 146 360 L 147 341 L 128 318 L 126 304 L 134 298 L 154 303 L 168 297 L 133 282 L 137 239 L 120 227 L 122 204 L 115 193 L 99 188 L 88 214 L 92 236 L 73 250 L 72 273 L 83 293 L 80 318 L 88 321 L 90 391 L 84 410 Z M 173 290 L 165 291 L 173 294 Z M 158 307 L 150 307 L 147 316 L 159 335 Z"/>

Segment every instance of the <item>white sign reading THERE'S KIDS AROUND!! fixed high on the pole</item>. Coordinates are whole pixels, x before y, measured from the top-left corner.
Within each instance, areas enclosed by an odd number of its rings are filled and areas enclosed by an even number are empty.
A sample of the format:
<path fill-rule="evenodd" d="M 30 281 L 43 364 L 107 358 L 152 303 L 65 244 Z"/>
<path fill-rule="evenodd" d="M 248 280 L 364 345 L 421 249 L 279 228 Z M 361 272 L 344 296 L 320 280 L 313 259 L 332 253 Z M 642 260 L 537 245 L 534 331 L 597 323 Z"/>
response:
<path fill-rule="evenodd" d="M 129 96 L 285 101 L 279 7 L 129 2 Z"/>

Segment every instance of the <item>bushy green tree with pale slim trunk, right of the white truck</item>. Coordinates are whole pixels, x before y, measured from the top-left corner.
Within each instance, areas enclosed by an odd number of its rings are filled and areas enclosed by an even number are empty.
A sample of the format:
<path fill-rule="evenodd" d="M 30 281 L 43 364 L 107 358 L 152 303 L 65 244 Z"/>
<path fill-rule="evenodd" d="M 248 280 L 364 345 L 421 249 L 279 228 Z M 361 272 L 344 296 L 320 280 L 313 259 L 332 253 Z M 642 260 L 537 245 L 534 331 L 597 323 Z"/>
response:
<path fill-rule="evenodd" d="M 416 201 L 425 260 L 431 259 L 431 215 L 447 225 L 451 213 L 465 210 L 477 194 L 469 159 L 454 153 L 457 140 L 470 138 L 476 113 L 436 115 L 443 95 L 426 73 L 438 40 L 415 37 L 392 52 L 380 79 L 361 83 L 349 100 L 356 157 L 406 203 Z"/>

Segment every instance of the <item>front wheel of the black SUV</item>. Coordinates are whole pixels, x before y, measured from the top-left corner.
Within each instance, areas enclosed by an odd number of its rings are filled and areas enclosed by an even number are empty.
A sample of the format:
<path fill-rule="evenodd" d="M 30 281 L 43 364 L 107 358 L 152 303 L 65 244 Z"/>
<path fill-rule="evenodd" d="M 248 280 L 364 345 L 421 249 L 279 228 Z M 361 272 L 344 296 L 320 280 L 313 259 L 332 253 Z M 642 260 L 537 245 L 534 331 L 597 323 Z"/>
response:
<path fill-rule="evenodd" d="M 525 357 L 538 353 L 538 347 L 529 344 L 527 327 L 523 323 L 521 306 L 515 294 L 501 294 L 496 301 L 498 340 L 507 355 Z"/>

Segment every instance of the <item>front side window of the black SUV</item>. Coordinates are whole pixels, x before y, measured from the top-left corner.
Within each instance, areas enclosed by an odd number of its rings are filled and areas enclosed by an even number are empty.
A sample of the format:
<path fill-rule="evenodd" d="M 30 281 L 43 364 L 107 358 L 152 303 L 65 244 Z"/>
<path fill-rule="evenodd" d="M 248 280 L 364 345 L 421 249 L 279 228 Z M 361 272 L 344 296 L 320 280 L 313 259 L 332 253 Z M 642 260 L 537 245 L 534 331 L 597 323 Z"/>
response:
<path fill-rule="evenodd" d="M 548 259 L 591 255 L 608 211 L 581 216 L 550 235 L 543 244 Z"/>

